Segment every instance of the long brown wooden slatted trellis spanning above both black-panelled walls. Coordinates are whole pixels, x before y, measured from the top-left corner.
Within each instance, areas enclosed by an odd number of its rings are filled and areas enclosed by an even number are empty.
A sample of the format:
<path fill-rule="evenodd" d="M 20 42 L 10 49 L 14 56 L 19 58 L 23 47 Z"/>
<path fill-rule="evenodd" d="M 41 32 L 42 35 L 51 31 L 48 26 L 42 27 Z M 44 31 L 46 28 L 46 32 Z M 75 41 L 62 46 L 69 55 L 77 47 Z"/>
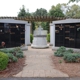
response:
<path fill-rule="evenodd" d="M 54 17 L 54 16 L 27 16 L 27 17 L 0 17 L 0 19 L 15 19 L 15 20 L 23 20 L 23 21 L 28 21 L 28 23 L 32 22 L 49 22 L 52 23 L 52 21 L 57 21 L 57 20 L 64 20 L 68 19 L 70 17 Z M 73 19 L 80 19 L 79 17 L 71 17 Z"/>

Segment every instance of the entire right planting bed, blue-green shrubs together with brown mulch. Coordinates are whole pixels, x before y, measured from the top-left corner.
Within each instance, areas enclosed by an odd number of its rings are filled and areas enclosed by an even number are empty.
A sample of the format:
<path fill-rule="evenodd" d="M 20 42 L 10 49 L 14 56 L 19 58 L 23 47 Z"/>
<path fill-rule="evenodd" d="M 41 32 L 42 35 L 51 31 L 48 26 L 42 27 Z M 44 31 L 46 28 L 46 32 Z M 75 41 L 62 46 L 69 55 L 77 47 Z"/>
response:
<path fill-rule="evenodd" d="M 59 52 L 58 52 L 59 51 Z M 80 77 L 80 53 L 61 46 L 51 56 L 54 67 L 69 77 Z"/>

